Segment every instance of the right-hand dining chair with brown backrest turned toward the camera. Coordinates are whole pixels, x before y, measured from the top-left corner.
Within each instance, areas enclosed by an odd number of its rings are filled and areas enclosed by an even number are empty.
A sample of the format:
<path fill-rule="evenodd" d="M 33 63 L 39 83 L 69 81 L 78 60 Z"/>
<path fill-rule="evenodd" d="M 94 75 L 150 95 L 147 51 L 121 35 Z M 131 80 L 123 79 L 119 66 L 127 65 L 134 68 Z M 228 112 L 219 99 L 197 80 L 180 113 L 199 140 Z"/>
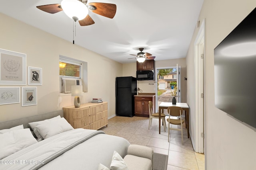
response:
<path fill-rule="evenodd" d="M 183 109 L 181 107 L 178 106 L 170 106 L 167 108 L 168 114 L 169 114 L 169 118 L 166 119 L 166 121 L 168 122 L 168 142 L 170 140 L 169 135 L 170 135 L 170 130 L 176 130 L 176 131 L 181 131 L 181 140 L 182 140 L 182 144 L 183 144 L 183 130 L 182 130 L 182 123 L 184 123 L 184 119 L 181 117 Z M 175 119 L 170 118 L 170 116 L 172 116 L 172 118 L 175 117 Z M 180 125 L 181 128 L 170 128 L 170 124 L 172 125 Z"/>

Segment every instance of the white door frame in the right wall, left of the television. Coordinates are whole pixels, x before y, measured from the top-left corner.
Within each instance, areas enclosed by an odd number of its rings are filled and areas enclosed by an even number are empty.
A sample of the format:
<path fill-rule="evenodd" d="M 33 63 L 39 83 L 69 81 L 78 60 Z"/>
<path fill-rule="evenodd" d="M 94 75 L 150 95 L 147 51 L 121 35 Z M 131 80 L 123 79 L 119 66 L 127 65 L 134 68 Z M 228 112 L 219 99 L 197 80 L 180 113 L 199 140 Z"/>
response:
<path fill-rule="evenodd" d="M 195 114 L 196 114 L 196 141 L 194 150 L 204 153 L 205 147 L 205 19 L 202 21 L 194 41 L 194 74 L 195 74 Z M 201 55 L 203 55 L 201 57 Z"/>

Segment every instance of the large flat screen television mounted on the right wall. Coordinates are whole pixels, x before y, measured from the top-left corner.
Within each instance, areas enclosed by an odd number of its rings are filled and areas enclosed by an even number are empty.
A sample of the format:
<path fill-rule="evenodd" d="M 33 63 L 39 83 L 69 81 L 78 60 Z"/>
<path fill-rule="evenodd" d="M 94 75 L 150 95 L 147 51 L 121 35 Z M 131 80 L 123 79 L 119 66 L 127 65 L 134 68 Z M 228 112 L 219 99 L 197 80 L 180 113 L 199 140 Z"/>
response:
<path fill-rule="evenodd" d="M 256 8 L 214 49 L 215 106 L 256 128 Z"/>

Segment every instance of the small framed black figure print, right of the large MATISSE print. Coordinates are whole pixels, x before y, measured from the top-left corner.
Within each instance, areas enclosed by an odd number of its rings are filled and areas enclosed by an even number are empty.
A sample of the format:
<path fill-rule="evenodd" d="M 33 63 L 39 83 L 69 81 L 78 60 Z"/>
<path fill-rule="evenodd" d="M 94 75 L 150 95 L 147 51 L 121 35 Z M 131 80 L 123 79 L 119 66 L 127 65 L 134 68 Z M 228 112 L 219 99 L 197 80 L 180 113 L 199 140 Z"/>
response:
<path fill-rule="evenodd" d="M 42 68 L 28 67 L 28 85 L 42 85 Z"/>

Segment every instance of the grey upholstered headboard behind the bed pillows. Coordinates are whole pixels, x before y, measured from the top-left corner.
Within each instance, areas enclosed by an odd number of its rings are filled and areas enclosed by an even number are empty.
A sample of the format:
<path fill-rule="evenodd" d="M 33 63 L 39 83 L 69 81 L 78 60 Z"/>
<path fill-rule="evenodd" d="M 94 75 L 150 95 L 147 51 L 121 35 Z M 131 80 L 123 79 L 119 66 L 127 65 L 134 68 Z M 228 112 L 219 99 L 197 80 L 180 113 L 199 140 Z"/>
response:
<path fill-rule="evenodd" d="M 11 127 L 18 126 L 18 125 L 23 125 L 24 128 L 30 128 L 30 126 L 28 125 L 28 123 L 30 123 L 30 122 L 50 119 L 50 118 L 56 117 L 58 115 L 63 117 L 63 111 L 58 110 L 58 111 L 54 111 L 54 112 L 50 112 L 50 113 L 45 113 L 42 115 L 35 115 L 35 116 L 31 116 L 31 117 L 25 117 L 25 118 L 21 118 L 21 119 L 12 120 L 12 121 L 2 122 L 2 123 L 0 123 L 0 130 L 1 129 L 10 129 Z"/>

